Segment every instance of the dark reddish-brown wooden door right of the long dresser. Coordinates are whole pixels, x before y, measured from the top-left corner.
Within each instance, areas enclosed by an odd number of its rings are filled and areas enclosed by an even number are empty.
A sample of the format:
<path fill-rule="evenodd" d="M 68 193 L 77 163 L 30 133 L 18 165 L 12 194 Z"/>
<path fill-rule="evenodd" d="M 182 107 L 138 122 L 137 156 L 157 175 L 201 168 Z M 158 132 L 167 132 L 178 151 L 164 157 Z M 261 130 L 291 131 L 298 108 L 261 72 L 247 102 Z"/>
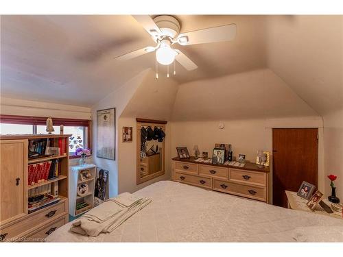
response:
<path fill-rule="evenodd" d="M 273 204 L 287 208 L 285 190 L 318 182 L 318 129 L 273 129 Z"/>

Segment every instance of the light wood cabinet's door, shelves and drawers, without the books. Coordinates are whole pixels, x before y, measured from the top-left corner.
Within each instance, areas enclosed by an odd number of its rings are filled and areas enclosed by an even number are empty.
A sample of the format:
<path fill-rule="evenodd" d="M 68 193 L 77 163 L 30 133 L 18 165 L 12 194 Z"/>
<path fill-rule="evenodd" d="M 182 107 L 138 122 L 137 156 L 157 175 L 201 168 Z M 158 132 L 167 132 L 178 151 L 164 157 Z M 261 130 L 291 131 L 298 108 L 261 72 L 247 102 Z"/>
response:
<path fill-rule="evenodd" d="M 0 241 L 44 241 L 47 235 L 69 222 L 69 136 L 71 135 L 0 136 Z M 29 160 L 30 140 L 46 140 L 46 138 L 49 138 L 49 142 L 54 141 L 56 145 L 59 142 L 61 145 L 64 144 L 64 154 Z M 58 160 L 60 163 L 58 177 L 29 185 L 29 165 L 51 160 Z M 46 171 L 48 170 L 47 168 Z M 49 185 L 53 194 L 57 193 L 55 189 L 58 185 L 57 197 L 60 201 L 29 213 L 28 194 L 32 190 L 38 191 L 42 186 L 48 188 Z"/>

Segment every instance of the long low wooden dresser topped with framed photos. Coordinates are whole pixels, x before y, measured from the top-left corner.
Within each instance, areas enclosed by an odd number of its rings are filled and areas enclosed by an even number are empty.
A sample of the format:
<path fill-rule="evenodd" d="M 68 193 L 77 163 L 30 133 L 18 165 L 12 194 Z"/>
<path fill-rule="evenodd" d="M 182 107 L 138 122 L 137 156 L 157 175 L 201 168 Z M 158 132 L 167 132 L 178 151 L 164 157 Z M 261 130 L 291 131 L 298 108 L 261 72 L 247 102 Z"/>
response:
<path fill-rule="evenodd" d="M 244 167 L 196 162 L 196 158 L 173 158 L 172 179 L 202 188 L 239 195 L 268 203 L 269 167 L 247 162 Z"/>

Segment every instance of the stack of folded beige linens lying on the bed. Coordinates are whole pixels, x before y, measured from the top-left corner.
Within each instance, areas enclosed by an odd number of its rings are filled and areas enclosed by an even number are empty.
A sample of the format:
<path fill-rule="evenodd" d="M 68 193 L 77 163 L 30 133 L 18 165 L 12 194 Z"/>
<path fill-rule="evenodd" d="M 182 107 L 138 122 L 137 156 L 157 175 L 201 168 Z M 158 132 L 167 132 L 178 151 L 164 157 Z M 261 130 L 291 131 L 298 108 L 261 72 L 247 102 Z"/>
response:
<path fill-rule="evenodd" d="M 129 207 L 123 208 L 112 198 L 110 201 L 104 202 L 104 204 L 110 204 L 105 206 L 101 204 L 89 211 L 91 214 L 87 212 L 80 219 L 77 219 L 72 223 L 70 230 L 88 236 L 98 236 L 101 232 L 110 233 L 147 204 L 150 204 L 151 201 L 149 198 L 141 198 L 134 201 Z M 126 204 L 129 204 L 129 202 L 126 201 Z M 108 208 L 112 210 L 108 210 Z M 102 212 L 105 212 L 105 214 Z"/>

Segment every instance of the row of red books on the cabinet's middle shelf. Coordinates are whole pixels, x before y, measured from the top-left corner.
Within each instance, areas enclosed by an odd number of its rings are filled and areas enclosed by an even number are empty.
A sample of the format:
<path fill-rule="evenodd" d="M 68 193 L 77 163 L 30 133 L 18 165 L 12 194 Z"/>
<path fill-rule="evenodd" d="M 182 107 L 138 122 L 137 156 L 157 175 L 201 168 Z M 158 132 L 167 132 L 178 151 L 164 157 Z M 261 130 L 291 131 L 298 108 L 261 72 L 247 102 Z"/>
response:
<path fill-rule="evenodd" d="M 39 162 L 29 164 L 28 167 L 28 184 L 33 186 L 40 182 L 53 180 L 61 175 L 62 164 L 58 159 L 48 160 L 45 162 Z"/>

